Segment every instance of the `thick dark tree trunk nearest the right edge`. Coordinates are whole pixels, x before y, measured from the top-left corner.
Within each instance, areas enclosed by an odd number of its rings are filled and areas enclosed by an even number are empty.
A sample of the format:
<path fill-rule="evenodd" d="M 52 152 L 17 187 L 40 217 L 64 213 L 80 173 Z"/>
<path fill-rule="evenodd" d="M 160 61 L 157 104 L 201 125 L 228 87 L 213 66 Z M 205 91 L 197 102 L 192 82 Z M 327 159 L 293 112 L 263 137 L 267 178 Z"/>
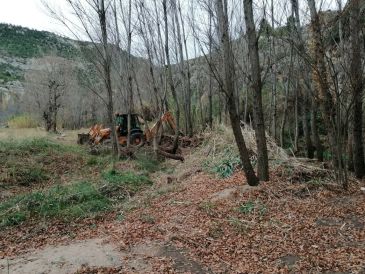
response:
<path fill-rule="evenodd" d="M 359 179 L 365 175 L 364 148 L 362 140 L 362 94 L 363 94 L 363 69 L 361 52 L 361 15 L 360 1 L 351 2 L 350 38 L 351 38 L 351 88 L 353 95 L 353 139 L 354 139 L 354 169 L 355 176 Z"/>

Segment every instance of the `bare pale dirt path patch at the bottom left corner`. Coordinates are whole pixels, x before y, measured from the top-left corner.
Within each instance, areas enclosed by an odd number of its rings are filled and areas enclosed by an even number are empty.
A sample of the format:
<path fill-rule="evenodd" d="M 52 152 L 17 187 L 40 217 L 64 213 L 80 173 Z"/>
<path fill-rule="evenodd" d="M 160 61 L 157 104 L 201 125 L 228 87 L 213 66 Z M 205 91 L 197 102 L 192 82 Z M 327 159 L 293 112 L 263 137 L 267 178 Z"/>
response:
<path fill-rule="evenodd" d="M 169 262 L 177 273 L 212 273 L 187 251 L 162 242 L 140 243 L 120 251 L 117 245 L 95 238 L 68 245 L 47 246 L 21 256 L 0 260 L 0 273 L 88 273 L 92 269 L 118 273 L 152 273 L 158 261 Z"/>

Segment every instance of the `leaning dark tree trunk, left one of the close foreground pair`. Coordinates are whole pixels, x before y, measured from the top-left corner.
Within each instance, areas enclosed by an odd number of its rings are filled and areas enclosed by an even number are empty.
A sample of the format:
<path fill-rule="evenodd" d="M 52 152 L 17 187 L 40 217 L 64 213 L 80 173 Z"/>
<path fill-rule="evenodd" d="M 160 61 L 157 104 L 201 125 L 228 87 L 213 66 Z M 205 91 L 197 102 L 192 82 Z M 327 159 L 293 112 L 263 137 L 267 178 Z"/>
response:
<path fill-rule="evenodd" d="M 224 4 L 225 5 L 224 5 Z M 224 9 L 225 6 L 225 9 Z M 220 36 L 220 44 L 222 51 L 223 67 L 224 67 L 224 83 L 223 88 L 227 95 L 227 107 L 229 109 L 229 117 L 233 135 L 235 137 L 238 150 L 240 153 L 243 170 L 246 174 L 247 183 L 251 186 L 258 185 L 259 181 L 252 168 L 250 158 L 248 155 L 245 140 L 243 139 L 242 130 L 240 127 L 240 120 L 237 113 L 236 102 L 234 99 L 234 62 L 231 48 L 231 42 L 228 31 L 228 16 L 227 16 L 227 2 L 225 0 L 216 0 L 218 29 Z"/>

